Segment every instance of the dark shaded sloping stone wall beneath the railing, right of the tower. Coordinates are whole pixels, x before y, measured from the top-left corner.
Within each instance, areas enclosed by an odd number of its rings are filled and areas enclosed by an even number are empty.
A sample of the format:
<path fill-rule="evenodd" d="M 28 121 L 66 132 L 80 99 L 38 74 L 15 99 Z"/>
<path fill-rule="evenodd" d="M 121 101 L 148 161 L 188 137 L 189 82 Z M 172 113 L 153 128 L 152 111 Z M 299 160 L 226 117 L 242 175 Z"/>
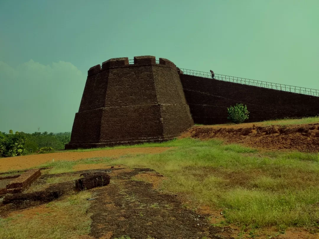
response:
<path fill-rule="evenodd" d="M 249 120 L 256 122 L 319 114 L 319 97 L 257 86 L 180 74 L 193 120 L 197 124 L 222 124 L 227 107 L 247 105 Z"/>

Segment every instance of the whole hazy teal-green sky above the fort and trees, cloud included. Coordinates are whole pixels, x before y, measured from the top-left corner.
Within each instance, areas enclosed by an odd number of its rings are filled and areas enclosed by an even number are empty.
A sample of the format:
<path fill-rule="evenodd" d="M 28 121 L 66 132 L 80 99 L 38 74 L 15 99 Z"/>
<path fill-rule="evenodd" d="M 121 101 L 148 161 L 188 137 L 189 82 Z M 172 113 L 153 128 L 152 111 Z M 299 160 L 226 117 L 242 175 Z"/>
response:
<path fill-rule="evenodd" d="M 0 0 L 0 131 L 70 132 L 87 70 L 153 55 L 319 89 L 318 0 Z"/>

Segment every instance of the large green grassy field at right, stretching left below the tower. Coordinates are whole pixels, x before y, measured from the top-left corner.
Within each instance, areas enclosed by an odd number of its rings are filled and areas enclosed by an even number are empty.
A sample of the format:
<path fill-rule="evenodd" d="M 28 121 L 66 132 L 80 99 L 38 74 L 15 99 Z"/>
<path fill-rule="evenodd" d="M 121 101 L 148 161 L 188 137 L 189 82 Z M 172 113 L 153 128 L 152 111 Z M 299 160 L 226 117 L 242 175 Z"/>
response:
<path fill-rule="evenodd" d="M 223 210 L 223 225 L 252 229 L 275 226 L 278 230 L 319 226 L 319 154 L 261 153 L 239 145 L 224 145 L 218 140 L 189 138 L 115 148 L 127 147 L 175 148 L 154 155 L 57 161 L 41 167 L 53 167 L 46 170 L 49 174 L 71 172 L 76 164 L 147 167 L 167 177 L 162 190 L 184 193 L 193 202 L 190 206 Z M 10 238 L 8 235 L 18 227 L 28 230 L 30 227 L 23 223 L 0 219 L 0 237 Z"/>

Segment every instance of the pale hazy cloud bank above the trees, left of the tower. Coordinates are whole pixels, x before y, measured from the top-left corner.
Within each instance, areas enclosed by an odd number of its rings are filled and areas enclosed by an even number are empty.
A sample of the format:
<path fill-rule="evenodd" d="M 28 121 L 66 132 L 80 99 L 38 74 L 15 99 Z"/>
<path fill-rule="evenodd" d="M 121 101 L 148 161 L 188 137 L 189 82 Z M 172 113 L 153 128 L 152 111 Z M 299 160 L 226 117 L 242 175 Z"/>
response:
<path fill-rule="evenodd" d="M 0 130 L 71 131 L 86 76 L 70 62 L 0 61 Z"/>

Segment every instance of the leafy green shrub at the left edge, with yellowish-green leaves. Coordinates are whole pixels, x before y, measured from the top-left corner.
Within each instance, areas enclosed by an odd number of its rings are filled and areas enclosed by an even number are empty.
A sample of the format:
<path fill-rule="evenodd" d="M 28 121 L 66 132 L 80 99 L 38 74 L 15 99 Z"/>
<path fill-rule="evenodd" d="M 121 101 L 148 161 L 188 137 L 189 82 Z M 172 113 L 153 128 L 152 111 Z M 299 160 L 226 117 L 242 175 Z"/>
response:
<path fill-rule="evenodd" d="M 14 157 L 26 155 L 28 151 L 25 148 L 26 137 L 19 132 L 13 134 L 9 130 L 9 134 L 1 133 L 0 135 L 0 154 L 3 157 Z"/>

